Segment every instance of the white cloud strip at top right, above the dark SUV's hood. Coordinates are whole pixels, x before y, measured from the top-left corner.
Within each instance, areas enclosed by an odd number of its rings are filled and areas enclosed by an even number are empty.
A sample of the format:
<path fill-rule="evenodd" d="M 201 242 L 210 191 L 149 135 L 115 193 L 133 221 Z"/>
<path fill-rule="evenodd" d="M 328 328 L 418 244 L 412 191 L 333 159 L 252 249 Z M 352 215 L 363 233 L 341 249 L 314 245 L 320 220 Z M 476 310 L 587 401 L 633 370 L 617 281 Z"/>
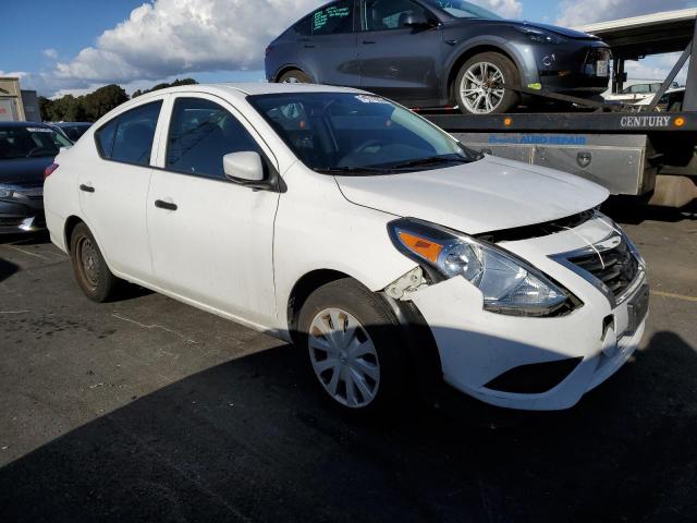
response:
<path fill-rule="evenodd" d="M 687 8 L 687 0 L 563 0 L 557 24 L 573 27 Z"/>

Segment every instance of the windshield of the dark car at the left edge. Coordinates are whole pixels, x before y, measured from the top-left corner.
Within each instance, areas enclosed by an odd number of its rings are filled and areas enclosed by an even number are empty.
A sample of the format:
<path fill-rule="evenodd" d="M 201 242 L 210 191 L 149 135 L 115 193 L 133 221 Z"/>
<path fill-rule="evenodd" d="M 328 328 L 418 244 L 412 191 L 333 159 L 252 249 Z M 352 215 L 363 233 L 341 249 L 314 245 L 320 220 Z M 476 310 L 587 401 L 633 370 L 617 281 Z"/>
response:
<path fill-rule="evenodd" d="M 56 156 L 69 145 L 70 139 L 49 127 L 0 125 L 0 160 Z"/>

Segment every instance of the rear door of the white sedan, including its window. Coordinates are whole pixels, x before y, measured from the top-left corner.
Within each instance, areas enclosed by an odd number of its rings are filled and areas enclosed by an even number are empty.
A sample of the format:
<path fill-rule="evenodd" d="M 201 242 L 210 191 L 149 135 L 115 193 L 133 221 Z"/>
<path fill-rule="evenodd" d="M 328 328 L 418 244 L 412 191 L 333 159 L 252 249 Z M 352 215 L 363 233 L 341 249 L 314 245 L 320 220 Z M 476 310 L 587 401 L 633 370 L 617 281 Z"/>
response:
<path fill-rule="evenodd" d="M 81 166 L 75 187 L 87 226 L 110 268 L 147 280 L 150 251 L 146 197 L 162 98 L 121 112 L 95 132 L 97 158 Z"/>

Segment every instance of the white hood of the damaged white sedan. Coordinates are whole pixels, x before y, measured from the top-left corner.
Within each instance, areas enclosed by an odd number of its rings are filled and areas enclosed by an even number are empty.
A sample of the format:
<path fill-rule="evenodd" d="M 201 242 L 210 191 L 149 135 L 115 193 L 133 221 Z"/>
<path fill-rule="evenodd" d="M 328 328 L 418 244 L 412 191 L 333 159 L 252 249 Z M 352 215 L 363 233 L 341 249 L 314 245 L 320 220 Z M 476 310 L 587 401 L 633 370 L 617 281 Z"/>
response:
<path fill-rule="evenodd" d="M 573 174 L 493 156 L 444 169 L 335 179 L 356 205 L 468 234 L 564 218 L 608 197 L 606 188 Z"/>

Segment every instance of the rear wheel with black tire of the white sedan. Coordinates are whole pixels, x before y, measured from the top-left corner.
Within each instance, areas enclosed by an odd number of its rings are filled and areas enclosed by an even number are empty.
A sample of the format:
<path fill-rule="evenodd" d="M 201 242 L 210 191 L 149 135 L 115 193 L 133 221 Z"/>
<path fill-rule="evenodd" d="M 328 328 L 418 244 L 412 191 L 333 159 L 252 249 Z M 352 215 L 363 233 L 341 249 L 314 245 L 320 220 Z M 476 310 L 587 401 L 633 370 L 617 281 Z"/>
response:
<path fill-rule="evenodd" d="M 85 223 L 78 223 L 70 236 L 70 257 L 75 279 L 83 293 L 93 302 L 105 302 L 117 287 L 95 236 Z"/>

